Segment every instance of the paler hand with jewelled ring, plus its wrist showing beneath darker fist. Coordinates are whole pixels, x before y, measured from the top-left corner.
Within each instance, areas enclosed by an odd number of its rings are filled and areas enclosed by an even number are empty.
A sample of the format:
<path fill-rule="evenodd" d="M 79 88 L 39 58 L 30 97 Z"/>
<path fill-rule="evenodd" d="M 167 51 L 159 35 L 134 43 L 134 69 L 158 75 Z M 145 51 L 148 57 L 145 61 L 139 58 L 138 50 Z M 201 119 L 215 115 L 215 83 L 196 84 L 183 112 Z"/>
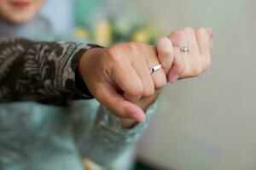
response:
<path fill-rule="evenodd" d="M 196 77 L 206 71 L 211 63 L 210 48 L 212 47 L 212 29 L 199 28 L 194 31 L 192 28 L 184 28 L 180 31 L 173 31 L 167 37 L 161 38 L 157 43 L 158 59 L 169 81 L 174 83 L 177 78 Z M 174 47 L 172 46 L 172 42 Z M 183 54 L 181 47 L 189 47 L 189 53 Z M 173 57 L 174 56 L 174 57 Z M 148 99 L 141 99 L 137 102 L 144 110 L 156 99 L 160 92 L 155 93 Z M 146 107 L 145 107 L 146 106 Z M 136 122 L 122 119 L 123 127 L 131 127 Z"/>

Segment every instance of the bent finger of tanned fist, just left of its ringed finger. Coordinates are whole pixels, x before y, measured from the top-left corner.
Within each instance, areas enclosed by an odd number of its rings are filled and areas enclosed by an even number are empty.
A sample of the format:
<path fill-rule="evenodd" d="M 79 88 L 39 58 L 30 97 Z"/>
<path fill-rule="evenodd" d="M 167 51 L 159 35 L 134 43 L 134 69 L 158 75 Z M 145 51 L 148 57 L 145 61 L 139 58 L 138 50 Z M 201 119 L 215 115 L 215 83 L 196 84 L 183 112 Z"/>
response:
<path fill-rule="evenodd" d="M 154 94 L 154 82 L 148 72 L 148 65 L 144 59 L 140 62 L 132 63 L 135 71 L 137 71 L 138 77 L 140 77 L 141 82 L 143 82 L 143 98 L 150 97 Z"/>

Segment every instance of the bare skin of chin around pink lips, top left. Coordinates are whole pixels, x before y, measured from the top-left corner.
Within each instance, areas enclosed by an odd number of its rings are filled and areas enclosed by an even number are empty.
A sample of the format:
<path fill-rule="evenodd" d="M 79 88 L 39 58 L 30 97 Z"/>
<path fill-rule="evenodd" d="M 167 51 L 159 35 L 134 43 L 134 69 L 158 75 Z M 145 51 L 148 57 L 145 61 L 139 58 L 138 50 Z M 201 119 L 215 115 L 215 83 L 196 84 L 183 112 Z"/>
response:
<path fill-rule="evenodd" d="M 29 3 L 23 7 L 13 5 L 16 3 Z M 0 0 L 0 16 L 12 24 L 23 24 L 38 14 L 44 0 Z"/>

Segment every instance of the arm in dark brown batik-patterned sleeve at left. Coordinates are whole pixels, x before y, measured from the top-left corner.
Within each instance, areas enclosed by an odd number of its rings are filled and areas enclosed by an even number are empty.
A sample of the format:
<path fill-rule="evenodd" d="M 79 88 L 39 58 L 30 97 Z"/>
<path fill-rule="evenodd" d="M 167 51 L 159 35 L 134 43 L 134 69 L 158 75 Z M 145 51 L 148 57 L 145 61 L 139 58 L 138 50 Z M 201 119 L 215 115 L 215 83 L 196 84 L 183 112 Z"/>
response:
<path fill-rule="evenodd" d="M 79 59 L 89 48 L 75 42 L 0 38 L 0 101 L 90 99 L 75 81 Z"/>

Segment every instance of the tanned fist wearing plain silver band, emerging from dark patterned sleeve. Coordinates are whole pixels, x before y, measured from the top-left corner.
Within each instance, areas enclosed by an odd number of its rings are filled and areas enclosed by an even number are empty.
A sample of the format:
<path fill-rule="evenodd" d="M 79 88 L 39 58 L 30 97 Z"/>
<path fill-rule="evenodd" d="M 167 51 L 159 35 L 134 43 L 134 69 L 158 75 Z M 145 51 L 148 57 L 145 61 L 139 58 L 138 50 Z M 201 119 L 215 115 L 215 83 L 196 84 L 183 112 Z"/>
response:
<path fill-rule="evenodd" d="M 116 116 L 143 122 L 144 111 L 134 103 L 152 96 L 155 89 L 166 85 L 166 74 L 162 69 L 149 72 L 148 68 L 157 64 L 154 47 L 126 42 L 88 50 L 80 60 L 79 73 L 90 93 Z"/>

